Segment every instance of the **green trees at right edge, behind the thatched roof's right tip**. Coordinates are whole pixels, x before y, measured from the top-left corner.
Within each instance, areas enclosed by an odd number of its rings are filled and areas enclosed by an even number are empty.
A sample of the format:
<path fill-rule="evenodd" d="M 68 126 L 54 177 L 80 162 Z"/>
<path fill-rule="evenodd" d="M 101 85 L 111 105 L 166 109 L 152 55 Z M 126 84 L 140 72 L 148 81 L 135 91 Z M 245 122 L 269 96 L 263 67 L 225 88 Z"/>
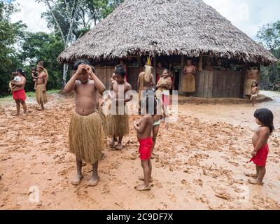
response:
<path fill-rule="evenodd" d="M 263 26 L 257 34 L 258 41 L 280 59 L 280 21 Z M 280 90 L 280 63 L 262 68 L 262 86 Z"/>

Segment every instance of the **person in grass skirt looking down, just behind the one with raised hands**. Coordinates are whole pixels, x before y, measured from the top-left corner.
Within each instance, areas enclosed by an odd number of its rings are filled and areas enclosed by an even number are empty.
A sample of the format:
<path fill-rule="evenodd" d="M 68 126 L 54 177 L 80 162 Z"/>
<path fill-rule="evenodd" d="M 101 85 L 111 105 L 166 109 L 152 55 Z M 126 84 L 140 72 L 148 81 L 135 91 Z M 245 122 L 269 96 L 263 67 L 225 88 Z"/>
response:
<path fill-rule="evenodd" d="M 125 98 L 125 94 L 127 91 L 132 90 L 132 86 L 125 81 L 125 70 L 123 67 L 116 69 L 115 75 L 116 80 L 113 80 L 110 86 L 110 90 L 113 90 L 114 95 L 110 96 L 112 104 L 111 114 L 108 117 L 108 131 L 109 135 L 112 137 L 110 146 L 115 146 L 114 139 L 118 137 L 118 146 L 116 147 L 116 150 L 121 150 L 123 148 L 123 137 L 130 133 L 130 118 L 127 113 L 125 113 L 126 103 L 130 102 L 133 97 L 130 96 Z M 116 110 L 114 110 L 113 105 L 116 105 Z M 119 109 L 120 111 L 123 111 L 123 113 L 120 113 Z"/>

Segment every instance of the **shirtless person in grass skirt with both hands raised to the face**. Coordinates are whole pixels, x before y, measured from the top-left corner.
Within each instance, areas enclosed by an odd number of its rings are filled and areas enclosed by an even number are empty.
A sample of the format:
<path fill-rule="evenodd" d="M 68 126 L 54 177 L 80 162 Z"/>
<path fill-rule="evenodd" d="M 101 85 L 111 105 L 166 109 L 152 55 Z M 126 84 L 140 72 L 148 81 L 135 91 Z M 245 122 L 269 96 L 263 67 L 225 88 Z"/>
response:
<path fill-rule="evenodd" d="M 102 118 L 96 111 L 97 92 L 103 94 L 105 86 L 87 60 L 76 62 L 74 70 L 76 72 L 64 88 L 65 92 L 75 91 L 76 109 L 69 126 L 69 148 L 76 155 L 77 175 L 71 183 L 77 186 L 83 179 L 84 161 L 92 165 L 92 177 L 87 185 L 96 186 L 99 181 L 98 161 L 104 145 Z"/>

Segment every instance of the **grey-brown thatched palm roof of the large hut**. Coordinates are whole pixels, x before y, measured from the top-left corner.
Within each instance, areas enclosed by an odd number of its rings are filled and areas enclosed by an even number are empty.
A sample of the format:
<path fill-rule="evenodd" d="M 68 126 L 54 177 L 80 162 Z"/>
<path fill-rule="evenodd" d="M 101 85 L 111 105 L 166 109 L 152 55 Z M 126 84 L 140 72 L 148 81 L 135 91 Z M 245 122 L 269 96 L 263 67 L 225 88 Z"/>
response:
<path fill-rule="evenodd" d="M 211 53 L 271 64 L 276 58 L 202 0 L 126 0 L 62 52 L 59 62 L 86 57 Z"/>

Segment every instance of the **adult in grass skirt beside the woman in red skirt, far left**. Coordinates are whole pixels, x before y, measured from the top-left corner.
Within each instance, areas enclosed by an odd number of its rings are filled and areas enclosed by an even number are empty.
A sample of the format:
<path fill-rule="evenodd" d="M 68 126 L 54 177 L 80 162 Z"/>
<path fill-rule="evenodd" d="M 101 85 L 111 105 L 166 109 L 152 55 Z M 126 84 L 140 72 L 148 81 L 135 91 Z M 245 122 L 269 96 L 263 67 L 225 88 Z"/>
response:
<path fill-rule="evenodd" d="M 48 71 L 43 67 L 43 62 L 38 62 L 37 65 L 37 83 L 36 83 L 36 101 L 41 106 L 39 111 L 44 110 L 45 103 L 48 102 L 46 87 L 48 84 Z"/>

